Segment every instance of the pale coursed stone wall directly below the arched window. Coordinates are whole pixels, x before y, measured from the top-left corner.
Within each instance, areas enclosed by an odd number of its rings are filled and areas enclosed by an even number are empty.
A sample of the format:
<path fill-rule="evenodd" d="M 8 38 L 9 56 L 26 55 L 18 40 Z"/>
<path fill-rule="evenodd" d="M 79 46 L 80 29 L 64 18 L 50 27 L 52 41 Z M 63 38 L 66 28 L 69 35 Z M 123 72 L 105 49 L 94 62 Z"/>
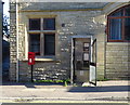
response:
<path fill-rule="evenodd" d="M 121 42 L 106 43 L 106 78 L 128 79 L 130 65 L 130 44 Z"/>

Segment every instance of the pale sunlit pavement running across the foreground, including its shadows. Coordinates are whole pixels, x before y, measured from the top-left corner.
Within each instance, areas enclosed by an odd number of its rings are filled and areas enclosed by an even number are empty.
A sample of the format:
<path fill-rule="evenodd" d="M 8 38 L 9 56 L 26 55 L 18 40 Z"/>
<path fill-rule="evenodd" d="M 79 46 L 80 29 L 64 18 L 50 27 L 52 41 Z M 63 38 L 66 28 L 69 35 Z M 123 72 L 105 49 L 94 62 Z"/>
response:
<path fill-rule="evenodd" d="M 129 103 L 128 80 L 98 81 L 98 86 L 4 82 L 0 86 L 2 103 Z"/>

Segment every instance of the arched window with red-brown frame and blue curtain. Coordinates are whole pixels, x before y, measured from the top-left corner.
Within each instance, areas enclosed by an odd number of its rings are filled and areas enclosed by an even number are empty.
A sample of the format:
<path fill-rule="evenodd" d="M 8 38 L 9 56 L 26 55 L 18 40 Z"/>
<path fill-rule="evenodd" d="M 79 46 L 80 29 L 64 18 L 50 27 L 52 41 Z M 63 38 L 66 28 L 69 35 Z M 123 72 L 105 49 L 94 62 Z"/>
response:
<path fill-rule="evenodd" d="M 108 15 L 108 41 L 130 41 L 130 5 Z"/>

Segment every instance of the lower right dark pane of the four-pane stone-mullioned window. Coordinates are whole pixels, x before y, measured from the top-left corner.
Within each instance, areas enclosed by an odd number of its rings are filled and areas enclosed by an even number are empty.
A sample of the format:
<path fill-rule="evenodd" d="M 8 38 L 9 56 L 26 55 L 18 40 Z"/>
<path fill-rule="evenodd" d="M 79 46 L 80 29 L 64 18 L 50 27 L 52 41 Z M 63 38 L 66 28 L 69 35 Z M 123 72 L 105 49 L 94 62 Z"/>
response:
<path fill-rule="evenodd" d="M 44 35 L 44 55 L 55 55 L 55 35 Z"/>

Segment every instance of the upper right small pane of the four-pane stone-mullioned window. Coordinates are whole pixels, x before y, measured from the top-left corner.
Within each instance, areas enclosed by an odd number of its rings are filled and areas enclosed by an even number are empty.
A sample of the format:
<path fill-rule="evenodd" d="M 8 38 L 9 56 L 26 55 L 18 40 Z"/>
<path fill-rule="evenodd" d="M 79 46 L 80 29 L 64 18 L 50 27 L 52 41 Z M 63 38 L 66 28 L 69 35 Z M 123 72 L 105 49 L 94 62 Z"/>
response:
<path fill-rule="evenodd" d="M 55 18 L 43 18 L 43 30 L 55 30 Z"/>

